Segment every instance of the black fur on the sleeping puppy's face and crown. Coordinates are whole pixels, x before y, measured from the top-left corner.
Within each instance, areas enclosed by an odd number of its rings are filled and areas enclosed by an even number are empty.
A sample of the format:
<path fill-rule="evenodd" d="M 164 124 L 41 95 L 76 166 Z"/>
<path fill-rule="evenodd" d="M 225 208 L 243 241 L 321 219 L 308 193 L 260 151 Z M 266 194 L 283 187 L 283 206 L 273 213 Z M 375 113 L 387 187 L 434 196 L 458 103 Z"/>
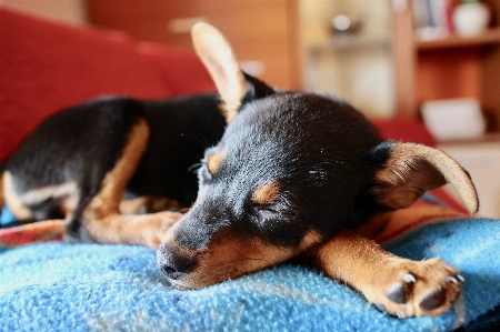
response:
<path fill-rule="evenodd" d="M 199 199 L 176 229 L 176 245 L 197 252 L 228 238 L 258 238 L 296 249 L 311 231 L 328 239 L 378 212 L 369 189 L 390 144 L 374 149 L 382 140 L 373 125 L 343 101 L 273 92 L 246 78 L 239 114 L 206 152 Z M 208 158 L 221 151 L 226 158 L 212 174 Z M 252 193 L 269 181 L 279 183 L 279 198 L 254 203 Z M 168 244 L 158 259 L 169 279 L 182 275 L 171 273 L 179 258 Z"/>

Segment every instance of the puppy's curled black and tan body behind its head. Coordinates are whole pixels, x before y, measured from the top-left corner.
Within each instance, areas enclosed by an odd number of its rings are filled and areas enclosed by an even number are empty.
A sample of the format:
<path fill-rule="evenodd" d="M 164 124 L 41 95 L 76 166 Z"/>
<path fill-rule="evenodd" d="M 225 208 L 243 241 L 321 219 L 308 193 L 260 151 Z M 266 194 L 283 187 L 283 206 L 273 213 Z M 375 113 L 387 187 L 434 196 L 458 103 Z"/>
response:
<path fill-rule="evenodd" d="M 189 169 L 224 127 L 216 94 L 77 105 L 42 122 L 2 165 L 0 205 L 21 221 L 66 219 L 67 241 L 157 248 L 181 214 L 122 215 L 126 190 L 142 198 L 134 210 L 164 197 L 189 207 L 198 190 Z"/>

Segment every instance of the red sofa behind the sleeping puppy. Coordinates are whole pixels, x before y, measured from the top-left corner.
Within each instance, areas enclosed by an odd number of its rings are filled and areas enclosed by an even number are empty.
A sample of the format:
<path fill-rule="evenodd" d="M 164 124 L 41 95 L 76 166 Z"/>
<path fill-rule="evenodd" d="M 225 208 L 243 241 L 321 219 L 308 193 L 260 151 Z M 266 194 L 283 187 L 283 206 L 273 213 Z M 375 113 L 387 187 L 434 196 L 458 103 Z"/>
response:
<path fill-rule="evenodd" d="M 44 118 L 88 99 L 153 99 L 214 90 L 191 50 L 0 8 L 0 164 Z M 434 143 L 413 119 L 374 123 L 387 139 Z"/>

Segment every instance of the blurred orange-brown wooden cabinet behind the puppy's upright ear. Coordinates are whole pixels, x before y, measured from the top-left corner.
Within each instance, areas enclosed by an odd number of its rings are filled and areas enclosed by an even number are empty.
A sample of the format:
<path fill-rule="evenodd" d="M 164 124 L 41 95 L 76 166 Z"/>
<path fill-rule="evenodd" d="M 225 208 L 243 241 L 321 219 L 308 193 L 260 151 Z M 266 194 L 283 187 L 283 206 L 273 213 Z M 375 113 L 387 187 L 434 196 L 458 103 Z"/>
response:
<path fill-rule="evenodd" d="M 214 24 L 243 67 L 267 83 L 300 89 L 297 0 L 88 0 L 89 21 L 137 40 L 191 47 L 199 20 Z"/>

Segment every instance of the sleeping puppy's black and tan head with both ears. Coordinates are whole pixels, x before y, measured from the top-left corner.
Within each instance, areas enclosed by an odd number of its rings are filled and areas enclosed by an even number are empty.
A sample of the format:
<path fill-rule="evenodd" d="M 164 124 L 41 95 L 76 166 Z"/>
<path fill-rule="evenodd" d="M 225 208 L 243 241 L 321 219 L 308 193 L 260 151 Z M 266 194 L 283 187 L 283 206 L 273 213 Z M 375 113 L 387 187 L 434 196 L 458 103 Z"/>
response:
<path fill-rule="evenodd" d="M 443 152 L 382 142 L 342 101 L 276 92 L 239 69 L 217 29 L 199 23 L 192 34 L 229 124 L 206 152 L 198 200 L 158 249 L 173 285 L 202 288 L 283 262 L 447 182 L 478 209 L 468 174 Z"/>

